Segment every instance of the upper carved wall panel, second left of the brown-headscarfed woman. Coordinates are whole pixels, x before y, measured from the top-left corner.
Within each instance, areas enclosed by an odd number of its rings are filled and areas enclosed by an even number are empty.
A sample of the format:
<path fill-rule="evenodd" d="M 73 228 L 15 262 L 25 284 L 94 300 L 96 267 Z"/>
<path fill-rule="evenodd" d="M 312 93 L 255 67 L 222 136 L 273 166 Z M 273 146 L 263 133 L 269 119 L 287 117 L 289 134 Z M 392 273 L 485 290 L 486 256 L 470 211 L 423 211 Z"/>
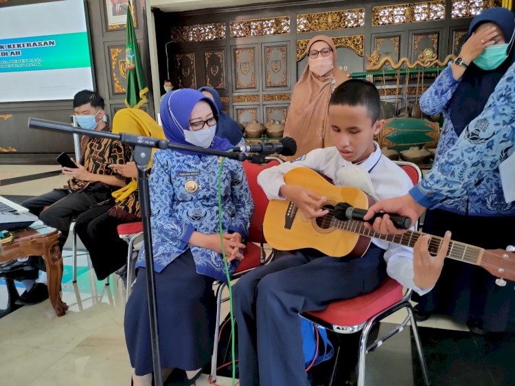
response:
<path fill-rule="evenodd" d="M 248 91 L 258 88 L 257 45 L 233 47 L 233 91 Z"/>

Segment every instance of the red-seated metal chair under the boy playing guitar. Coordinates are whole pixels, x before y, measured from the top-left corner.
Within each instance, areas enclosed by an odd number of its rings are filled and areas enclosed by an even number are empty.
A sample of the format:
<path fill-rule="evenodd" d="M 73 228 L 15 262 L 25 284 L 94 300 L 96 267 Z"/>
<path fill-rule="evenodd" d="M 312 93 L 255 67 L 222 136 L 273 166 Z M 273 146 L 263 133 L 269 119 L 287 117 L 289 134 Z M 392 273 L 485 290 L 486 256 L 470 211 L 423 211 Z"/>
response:
<path fill-rule="evenodd" d="M 398 165 L 407 172 L 413 183 L 418 183 L 422 178 L 420 168 L 411 162 L 396 161 Z M 365 386 L 365 356 L 369 352 L 378 348 L 382 343 L 391 338 L 394 334 L 402 331 L 411 322 L 411 329 L 417 347 L 417 354 L 420 360 L 420 367 L 424 376 L 424 382 L 429 385 L 428 372 L 422 343 L 418 334 L 417 322 L 413 318 L 413 308 L 409 302 L 413 291 L 408 289 L 402 296 L 402 285 L 390 277 L 385 280 L 374 292 L 354 297 L 352 299 L 332 302 L 325 310 L 303 313 L 301 316 L 319 324 L 328 330 L 338 334 L 354 334 L 361 331 L 358 354 L 358 386 Z M 371 329 L 385 317 L 396 311 L 406 308 L 408 316 L 400 325 L 393 329 L 389 334 L 380 337 L 367 346 L 367 340 Z M 334 369 L 339 359 L 339 350 L 336 354 Z M 334 374 L 334 370 L 333 373 Z M 333 379 L 331 378 L 330 385 Z"/>

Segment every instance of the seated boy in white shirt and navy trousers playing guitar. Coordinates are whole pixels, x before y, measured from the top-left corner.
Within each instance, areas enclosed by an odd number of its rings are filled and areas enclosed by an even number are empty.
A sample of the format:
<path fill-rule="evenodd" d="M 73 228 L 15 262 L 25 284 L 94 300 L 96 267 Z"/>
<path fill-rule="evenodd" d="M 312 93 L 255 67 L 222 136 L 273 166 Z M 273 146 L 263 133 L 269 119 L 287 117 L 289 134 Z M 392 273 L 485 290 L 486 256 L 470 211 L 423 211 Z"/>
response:
<path fill-rule="evenodd" d="M 368 180 L 369 194 L 376 199 L 408 192 L 413 186 L 411 180 L 381 155 L 374 141 L 383 124 L 378 120 L 379 111 L 379 93 L 370 82 L 347 80 L 336 87 L 330 99 L 328 126 L 335 146 L 312 150 L 296 161 L 261 172 L 258 183 L 266 196 L 292 201 L 309 219 L 327 214 L 319 209 L 325 197 L 284 183 L 284 174 L 298 167 L 316 170 L 339 185 L 359 186 Z M 341 237 L 345 237 L 343 232 Z M 441 253 L 446 253 L 448 241 L 446 237 Z M 362 258 L 323 256 L 303 249 L 242 276 L 233 290 L 240 384 L 309 385 L 299 313 L 323 310 L 335 300 L 370 293 L 387 275 L 426 293 L 437 277 L 421 279 L 417 266 L 414 272 L 411 249 L 372 239 Z M 347 349 L 357 352 L 357 348 Z"/>

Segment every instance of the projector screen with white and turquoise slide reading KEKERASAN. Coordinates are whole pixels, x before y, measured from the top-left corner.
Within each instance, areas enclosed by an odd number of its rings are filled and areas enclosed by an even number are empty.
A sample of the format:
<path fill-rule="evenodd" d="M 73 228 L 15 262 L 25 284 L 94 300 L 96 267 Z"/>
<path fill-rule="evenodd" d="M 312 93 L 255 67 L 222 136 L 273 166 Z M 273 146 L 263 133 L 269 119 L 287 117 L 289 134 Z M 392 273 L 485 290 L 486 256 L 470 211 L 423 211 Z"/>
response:
<path fill-rule="evenodd" d="M 91 67 L 84 0 L 0 8 L 0 102 L 73 99 Z"/>

